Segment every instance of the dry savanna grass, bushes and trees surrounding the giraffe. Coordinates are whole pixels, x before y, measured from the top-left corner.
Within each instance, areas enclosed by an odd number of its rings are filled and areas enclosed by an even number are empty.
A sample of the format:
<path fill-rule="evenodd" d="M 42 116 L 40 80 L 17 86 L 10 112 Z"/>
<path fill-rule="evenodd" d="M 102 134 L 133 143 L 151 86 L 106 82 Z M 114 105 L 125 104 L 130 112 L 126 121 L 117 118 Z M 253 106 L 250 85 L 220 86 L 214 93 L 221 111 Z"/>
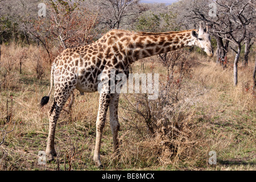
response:
<path fill-rule="evenodd" d="M 135 62 L 133 73 L 159 73 L 159 97 L 121 94 L 121 155 L 113 155 L 108 115 L 101 162 L 106 170 L 256 169 L 255 1 L 43 2 L 45 16 L 41 1 L 0 1 L 1 170 L 98 170 L 98 92 L 75 91 L 57 122 L 56 160 L 38 163 L 51 107 L 39 102 L 49 91 L 51 63 L 65 48 L 90 44 L 113 28 L 167 32 L 199 22 L 210 26 L 214 57 L 184 48 Z M 217 164 L 209 164 L 210 151 Z"/>

